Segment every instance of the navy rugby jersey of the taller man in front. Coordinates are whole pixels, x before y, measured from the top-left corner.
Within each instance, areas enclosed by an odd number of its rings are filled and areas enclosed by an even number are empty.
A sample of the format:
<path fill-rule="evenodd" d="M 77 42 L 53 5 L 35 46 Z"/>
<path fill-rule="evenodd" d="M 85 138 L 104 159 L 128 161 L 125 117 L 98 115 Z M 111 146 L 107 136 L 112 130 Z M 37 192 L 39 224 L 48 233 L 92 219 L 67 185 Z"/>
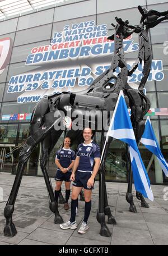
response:
<path fill-rule="evenodd" d="M 94 141 L 90 144 L 81 143 L 78 145 L 77 157 L 80 157 L 80 163 L 77 170 L 81 172 L 92 172 L 94 168 L 94 158 L 100 158 L 100 147 Z"/>

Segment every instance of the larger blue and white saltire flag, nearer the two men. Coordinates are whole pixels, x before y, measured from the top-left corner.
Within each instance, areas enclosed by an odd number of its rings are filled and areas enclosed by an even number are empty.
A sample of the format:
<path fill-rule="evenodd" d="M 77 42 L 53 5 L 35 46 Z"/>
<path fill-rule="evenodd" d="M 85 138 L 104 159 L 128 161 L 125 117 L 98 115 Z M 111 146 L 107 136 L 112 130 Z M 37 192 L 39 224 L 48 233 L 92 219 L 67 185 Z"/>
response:
<path fill-rule="evenodd" d="M 144 197 L 153 201 L 150 180 L 137 147 L 136 138 L 122 90 L 120 91 L 116 103 L 106 139 L 108 136 L 122 140 L 129 145 L 135 188 L 142 193 Z"/>

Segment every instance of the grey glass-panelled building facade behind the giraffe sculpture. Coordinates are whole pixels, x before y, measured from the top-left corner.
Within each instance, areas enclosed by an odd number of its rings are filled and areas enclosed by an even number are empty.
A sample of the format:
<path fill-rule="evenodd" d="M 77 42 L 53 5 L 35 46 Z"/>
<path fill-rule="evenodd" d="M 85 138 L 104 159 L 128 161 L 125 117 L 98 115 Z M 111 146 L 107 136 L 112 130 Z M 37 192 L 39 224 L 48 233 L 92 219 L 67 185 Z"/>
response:
<path fill-rule="evenodd" d="M 157 11 L 165 11 L 168 9 L 166 1 L 147 0 L 141 1 L 142 7 L 148 10 L 151 8 Z M 19 147 L 23 141 L 29 136 L 30 118 L 20 118 L 15 120 L 12 116 L 11 120 L 6 121 L 6 117 L 14 113 L 32 113 L 35 107 L 35 102 L 17 103 L 16 94 L 7 93 L 8 83 L 12 76 L 17 74 L 29 73 L 33 70 L 40 70 L 41 66 L 25 65 L 27 55 L 31 53 L 34 47 L 40 47 L 50 44 L 54 33 L 59 33 L 65 25 L 80 24 L 80 22 L 95 21 L 95 25 L 107 24 L 108 35 L 114 33 L 111 22 L 115 23 L 114 17 L 121 17 L 123 20 L 128 19 L 129 24 L 137 25 L 140 15 L 137 10 L 137 1 L 117 1 L 111 4 L 111 0 L 106 0 L 106 4 L 102 0 L 87 0 L 87 1 L 68 1 L 68 4 L 63 6 L 52 6 L 46 10 L 41 10 L 35 13 L 29 13 L 20 17 L 13 17 L 6 21 L 1 21 L 0 39 L 12 39 L 12 53 L 8 65 L 0 75 L 0 150 L 2 155 L 6 154 L 4 165 L 0 164 L 3 171 L 15 173 L 18 162 Z M 133 35 L 134 43 L 138 43 L 138 36 Z M 156 28 L 150 31 L 150 42 L 152 48 L 152 59 L 161 60 L 161 70 L 158 66 L 158 71 L 164 75 L 162 79 L 154 77 L 146 83 L 146 92 L 151 100 L 151 108 L 168 108 L 168 22 L 164 21 Z M 129 60 L 137 58 L 137 51 L 128 52 L 126 54 Z M 103 58 L 102 58 L 103 63 Z M 155 63 L 153 64 L 155 66 Z M 57 62 L 55 62 L 57 66 Z M 49 69 L 50 66 L 47 67 Z M 157 67 L 156 67 L 157 71 Z M 155 72 L 153 72 L 155 75 Z M 153 76 L 154 76 L 153 75 Z M 22 114 L 20 114 L 22 115 Z M 158 142 L 162 153 L 168 161 L 168 116 L 167 115 L 152 115 L 152 125 L 155 130 Z M 100 134 L 95 135 L 95 140 L 100 143 Z M 49 174 L 55 175 L 55 152 L 57 152 L 60 144 L 62 144 L 63 135 L 55 145 L 49 158 Z M 17 150 L 10 154 L 13 148 Z M 4 150 L 2 150 L 4 149 Z M 139 145 L 142 154 L 143 162 L 147 168 L 151 182 L 153 184 L 162 184 L 168 182 L 167 178 L 162 173 L 162 170 L 157 162 L 157 159 L 148 152 L 143 145 Z M 29 162 L 27 162 L 25 175 L 42 175 L 40 170 L 40 144 L 31 154 Z M 108 157 L 106 161 L 106 180 L 109 181 L 127 181 L 126 171 L 125 144 L 121 141 L 114 140 L 110 143 Z"/>

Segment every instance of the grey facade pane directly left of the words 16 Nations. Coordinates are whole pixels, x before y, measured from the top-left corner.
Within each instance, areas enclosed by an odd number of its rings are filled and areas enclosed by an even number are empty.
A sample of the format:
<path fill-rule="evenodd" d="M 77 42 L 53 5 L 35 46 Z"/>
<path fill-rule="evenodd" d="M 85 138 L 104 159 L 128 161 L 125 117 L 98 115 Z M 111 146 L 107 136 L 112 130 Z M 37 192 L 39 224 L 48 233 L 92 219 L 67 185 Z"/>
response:
<path fill-rule="evenodd" d="M 16 32 L 14 46 L 50 39 L 52 24 Z"/>

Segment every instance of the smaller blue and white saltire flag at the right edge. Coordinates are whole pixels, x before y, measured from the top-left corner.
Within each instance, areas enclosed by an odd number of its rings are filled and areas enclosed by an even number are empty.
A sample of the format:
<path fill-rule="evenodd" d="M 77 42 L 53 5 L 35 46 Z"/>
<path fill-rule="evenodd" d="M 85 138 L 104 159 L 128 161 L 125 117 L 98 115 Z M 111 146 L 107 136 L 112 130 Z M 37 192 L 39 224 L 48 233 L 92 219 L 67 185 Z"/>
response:
<path fill-rule="evenodd" d="M 160 163 L 160 166 L 162 167 L 162 170 L 164 171 L 166 177 L 168 177 L 168 163 L 166 162 L 164 156 L 162 155 L 162 152 L 158 145 L 155 133 L 153 131 L 153 127 L 151 125 L 150 117 L 147 117 L 145 129 L 140 141 L 148 150 L 155 154 L 155 156 L 158 159 L 158 162 Z"/>

